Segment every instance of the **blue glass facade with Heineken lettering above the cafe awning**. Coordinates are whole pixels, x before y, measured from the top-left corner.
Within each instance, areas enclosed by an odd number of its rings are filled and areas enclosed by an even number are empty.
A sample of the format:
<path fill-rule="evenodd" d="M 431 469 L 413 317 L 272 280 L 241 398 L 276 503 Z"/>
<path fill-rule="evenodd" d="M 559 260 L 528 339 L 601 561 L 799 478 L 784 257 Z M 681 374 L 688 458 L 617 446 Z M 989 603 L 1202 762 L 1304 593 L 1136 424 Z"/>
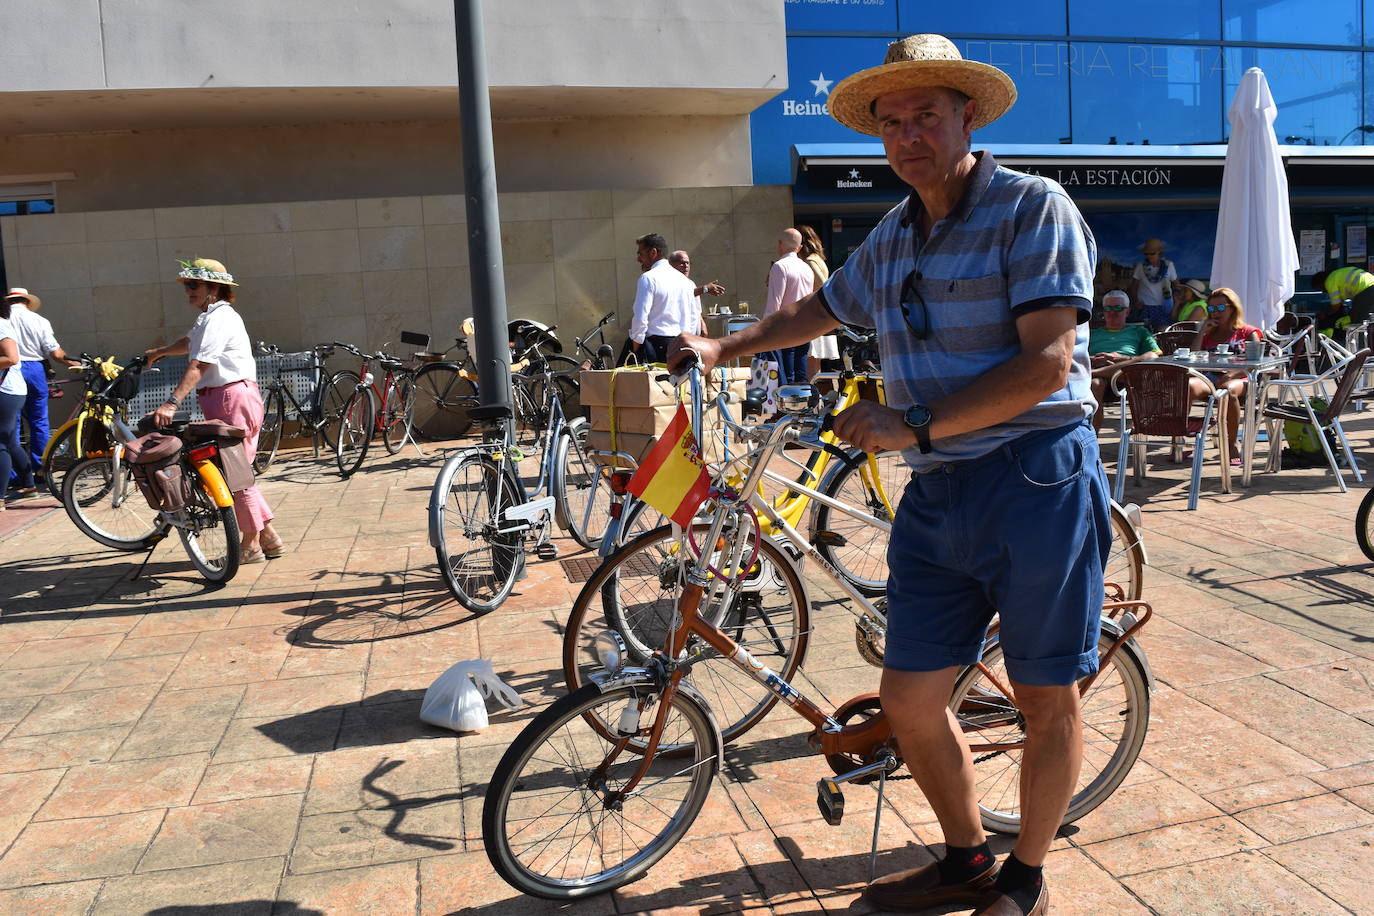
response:
<path fill-rule="evenodd" d="M 796 144 L 861 140 L 829 117 L 830 87 L 915 32 L 1015 81 L 1015 107 L 978 143 L 1223 143 L 1256 66 L 1281 143 L 1374 143 L 1374 0 L 787 0 L 786 12 L 790 88 L 750 118 L 760 184 L 791 183 Z"/>

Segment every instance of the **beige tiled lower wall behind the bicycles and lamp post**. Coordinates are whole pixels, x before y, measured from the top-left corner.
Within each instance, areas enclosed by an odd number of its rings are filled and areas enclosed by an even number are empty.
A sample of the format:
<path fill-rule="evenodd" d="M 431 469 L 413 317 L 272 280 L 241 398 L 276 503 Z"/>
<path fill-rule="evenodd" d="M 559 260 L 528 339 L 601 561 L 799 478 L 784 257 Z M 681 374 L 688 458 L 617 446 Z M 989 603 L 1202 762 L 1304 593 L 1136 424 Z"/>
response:
<path fill-rule="evenodd" d="M 660 232 L 692 254 L 698 282 L 760 304 L 787 187 L 585 190 L 500 195 L 511 317 L 558 324 L 572 342 L 606 312 L 629 323 L 635 238 Z M 466 213 L 456 195 L 155 207 L 0 217 L 12 286 L 43 297 L 62 345 L 120 358 L 173 341 L 194 313 L 177 258 L 214 257 L 239 280 L 254 341 L 368 349 L 401 330 L 452 342 L 473 313 Z M 394 347 L 394 352 L 401 352 Z"/>

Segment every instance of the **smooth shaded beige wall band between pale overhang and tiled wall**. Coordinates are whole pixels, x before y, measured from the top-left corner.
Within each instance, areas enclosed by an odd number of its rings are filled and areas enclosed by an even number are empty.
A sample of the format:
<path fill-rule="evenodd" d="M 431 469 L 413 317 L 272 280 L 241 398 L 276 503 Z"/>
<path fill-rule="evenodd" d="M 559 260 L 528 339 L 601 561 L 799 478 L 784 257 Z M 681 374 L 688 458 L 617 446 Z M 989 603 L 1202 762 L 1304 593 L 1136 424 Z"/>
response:
<path fill-rule="evenodd" d="M 507 191 L 752 183 L 743 117 L 515 121 L 493 137 Z M 463 190 L 456 119 L 23 135 L 0 137 L 0 162 L 74 174 L 62 213 Z"/>

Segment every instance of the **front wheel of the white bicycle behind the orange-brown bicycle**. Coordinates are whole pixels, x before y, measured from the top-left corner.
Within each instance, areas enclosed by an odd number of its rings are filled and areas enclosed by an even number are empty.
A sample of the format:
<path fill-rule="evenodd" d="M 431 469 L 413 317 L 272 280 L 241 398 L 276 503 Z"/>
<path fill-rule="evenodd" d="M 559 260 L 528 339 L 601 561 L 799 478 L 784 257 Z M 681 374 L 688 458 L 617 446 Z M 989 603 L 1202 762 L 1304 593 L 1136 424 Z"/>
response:
<path fill-rule="evenodd" d="M 694 526 L 698 542 L 708 526 Z M 730 534 L 723 534 L 731 542 Z M 687 551 L 675 549 L 677 538 L 671 526 L 658 527 L 617 549 L 592 573 L 573 602 L 563 634 L 563 677 L 567 689 L 587 683 L 591 670 L 600 667 L 594 640 L 603 630 L 616 630 L 629 650 L 632 663 L 640 663 L 655 650 L 664 648 L 668 628 L 676 615 L 680 582 L 686 574 Z M 719 610 L 719 625 L 743 644 L 754 659 L 767 665 L 783 680 L 790 680 L 807 656 L 811 611 L 805 586 L 796 567 L 782 549 L 768 538 L 760 542 L 757 588 L 732 599 Z M 764 592 L 775 597 L 786 591 L 786 603 L 765 606 Z M 720 722 L 720 733 L 730 743 L 757 725 L 778 703 L 778 696 L 720 658 L 705 643 L 691 643 L 688 651 L 709 652 L 687 676 Z"/>

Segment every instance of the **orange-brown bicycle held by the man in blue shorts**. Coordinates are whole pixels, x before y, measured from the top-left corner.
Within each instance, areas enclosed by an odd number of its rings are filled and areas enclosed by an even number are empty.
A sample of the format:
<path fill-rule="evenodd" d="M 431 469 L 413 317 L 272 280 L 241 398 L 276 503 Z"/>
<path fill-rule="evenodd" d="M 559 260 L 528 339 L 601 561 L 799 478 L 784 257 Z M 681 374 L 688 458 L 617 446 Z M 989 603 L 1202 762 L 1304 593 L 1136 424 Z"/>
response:
<path fill-rule="evenodd" d="M 643 876 L 683 839 L 724 753 L 714 710 L 684 681 L 708 658 L 728 659 L 812 725 L 809 743 L 833 770 L 818 783 L 818 805 L 830 824 L 844 816 L 844 783 L 885 780 L 903 753 L 919 753 L 897 747 L 877 695 L 823 710 L 789 683 L 794 666 L 774 672 L 754 655 L 753 640 L 767 643 L 771 636 L 736 634 L 760 582 L 802 593 L 794 563 L 763 537 L 750 505 L 768 459 L 802 424 L 798 400 L 804 408 L 805 397 L 785 398 L 787 416 L 772 428 L 738 430 L 756 446 L 749 474 L 738 488 L 717 478 L 706 518 L 684 531 L 684 586 L 661 648 L 636 659 L 620 634 L 607 630 L 596 644 L 602 670 L 530 721 L 496 765 L 482 806 L 482 842 L 492 867 L 513 887 L 550 900 L 605 893 Z M 812 416 L 805 424 L 815 428 L 819 422 Z M 584 595 L 600 588 L 602 575 L 588 581 Z M 1149 728 L 1150 673 L 1134 637 L 1150 615 L 1143 602 L 1103 604 L 1101 669 L 1079 684 L 1084 731 L 1092 740 L 1065 824 L 1106 801 L 1139 755 Z M 805 637 L 801 628 L 791 636 Z M 996 630 L 982 661 L 956 680 L 949 709 L 976 761 L 984 825 L 1018 831 L 1025 728 Z M 875 810 L 882 810 L 881 798 Z"/>

